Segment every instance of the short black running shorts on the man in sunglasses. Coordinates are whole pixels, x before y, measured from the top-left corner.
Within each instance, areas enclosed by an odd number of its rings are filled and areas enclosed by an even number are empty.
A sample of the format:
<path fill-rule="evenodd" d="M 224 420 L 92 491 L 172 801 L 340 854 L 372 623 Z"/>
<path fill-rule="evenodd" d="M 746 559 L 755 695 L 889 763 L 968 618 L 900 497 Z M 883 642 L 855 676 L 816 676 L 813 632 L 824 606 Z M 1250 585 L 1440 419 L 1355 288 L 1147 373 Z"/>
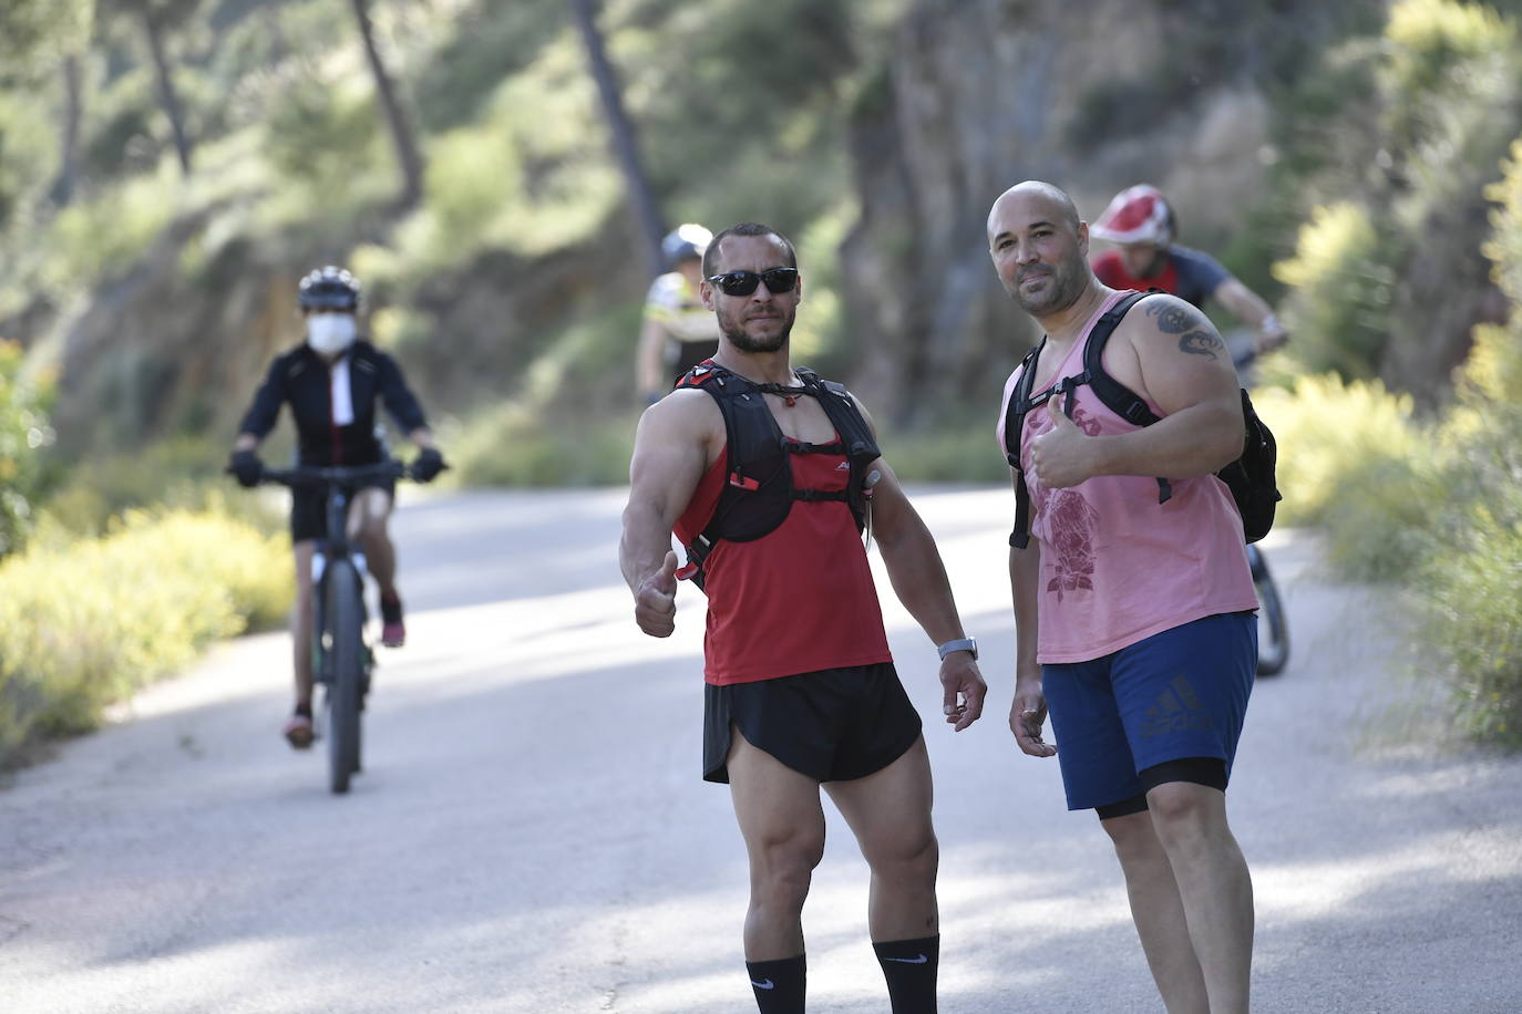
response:
<path fill-rule="evenodd" d="M 893 663 L 703 686 L 703 780 L 729 781 L 731 730 L 816 781 L 864 778 L 919 739 Z"/>

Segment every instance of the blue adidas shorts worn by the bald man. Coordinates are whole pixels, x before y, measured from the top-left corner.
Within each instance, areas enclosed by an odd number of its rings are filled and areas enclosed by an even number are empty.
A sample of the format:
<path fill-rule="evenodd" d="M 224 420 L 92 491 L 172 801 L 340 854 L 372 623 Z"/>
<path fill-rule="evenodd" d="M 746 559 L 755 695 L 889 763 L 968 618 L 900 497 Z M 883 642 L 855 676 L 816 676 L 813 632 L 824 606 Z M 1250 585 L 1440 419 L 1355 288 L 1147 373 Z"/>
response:
<path fill-rule="evenodd" d="M 1257 672 L 1257 617 L 1222 613 L 1091 661 L 1041 667 L 1067 809 L 1142 795 L 1137 777 L 1187 757 L 1236 757 Z"/>

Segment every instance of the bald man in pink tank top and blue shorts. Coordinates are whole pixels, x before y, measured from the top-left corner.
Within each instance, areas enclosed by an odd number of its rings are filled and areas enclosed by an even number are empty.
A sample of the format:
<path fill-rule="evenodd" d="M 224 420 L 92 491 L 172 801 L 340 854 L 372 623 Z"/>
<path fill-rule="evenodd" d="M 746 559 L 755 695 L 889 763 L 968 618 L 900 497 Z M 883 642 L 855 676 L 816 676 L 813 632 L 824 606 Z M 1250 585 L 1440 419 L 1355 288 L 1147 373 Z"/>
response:
<path fill-rule="evenodd" d="M 1225 787 L 1257 663 L 1257 599 L 1240 515 L 1215 476 L 1242 453 L 1236 369 L 1199 310 L 1146 296 L 1102 363 L 1161 418 L 1120 418 L 1096 397 L 1084 347 L 1122 293 L 1094 277 L 1068 196 L 1011 187 L 988 242 L 1005 289 L 1046 330 L 1021 366 L 1033 383 L 1009 442 L 1032 505 L 1029 543 L 1011 540 L 1009 725 L 1026 754 L 1058 756 L 1068 809 L 1097 812 L 1167 1009 L 1245 1012 L 1253 883 Z M 1001 424 L 1001 447 L 1005 436 Z M 1056 745 L 1043 740 L 1049 707 Z"/>

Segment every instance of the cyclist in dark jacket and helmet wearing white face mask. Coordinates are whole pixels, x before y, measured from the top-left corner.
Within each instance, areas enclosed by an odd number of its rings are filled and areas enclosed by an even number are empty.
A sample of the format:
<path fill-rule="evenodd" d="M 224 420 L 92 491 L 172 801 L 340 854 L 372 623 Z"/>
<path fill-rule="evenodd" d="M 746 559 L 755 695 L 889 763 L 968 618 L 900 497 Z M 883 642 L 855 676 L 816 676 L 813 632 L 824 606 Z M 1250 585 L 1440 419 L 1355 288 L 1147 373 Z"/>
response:
<path fill-rule="evenodd" d="M 263 477 L 259 444 L 274 429 L 280 406 L 291 406 L 298 464 L 309 467 L 373 465 L 388 455 L 376 432 L 376 401 L 419 448 L 412 477 L 434 479 L 444 459 L 434 444 L 423 409 L 402 379 L 396 360 L 358 330 L 359 280 L 341 268 L 320 268 L 301 280 L 297 303 L 306 339 L 277 356 L 244 415 L 228 471 L 244 486 Z M 380 585 L 380 643 L 400 648 L 406 639 L 402 599 L 396 590 L 396 549 L 387 531 L 394 482 L 352 491 L 349 531 L 365 552 Z M 291 543 L 295 550 L 297 602 L 291 629 L 295 640 L 295 710 L 285 737 L 297 749 L 312 745 L 312 555 L 326 535 L 324 494 L 318 488 L 291 491 Z"/>

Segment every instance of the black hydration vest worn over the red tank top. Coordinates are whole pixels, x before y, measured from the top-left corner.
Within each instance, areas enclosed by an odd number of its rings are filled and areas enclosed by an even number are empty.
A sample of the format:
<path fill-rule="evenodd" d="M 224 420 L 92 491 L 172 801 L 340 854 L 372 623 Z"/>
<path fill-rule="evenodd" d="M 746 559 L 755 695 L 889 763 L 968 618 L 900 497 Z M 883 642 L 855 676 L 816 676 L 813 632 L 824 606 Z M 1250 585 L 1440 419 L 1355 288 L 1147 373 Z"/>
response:
<path fill-rule="evenodd" d="M 804 366 L 794 368 L 802 386 L 753 383 L 718 363 L 705 362 L 686 371 L 677 388 L 700 388 L 724 417 L 724 488 L 714 515 L 686 546 L 686 566 L 677 578 L 703 587 L 703 561 L 718 540 L 749 543 L 778 529 L 794 500 L 840 500 L 851 508 L 860 532 L 868 521 L 868 465 L 881 456 L 872 429 L 861 417 L 845 385 L 822 380 Z M 766 394 L 819 401 L 836 429 L 828 444 L 793 441 L 782 435 L 767 407 Z M 851 476 L 845 490 L 799 490 L 793 485 L 790 455 L 845 455 Z"/>

